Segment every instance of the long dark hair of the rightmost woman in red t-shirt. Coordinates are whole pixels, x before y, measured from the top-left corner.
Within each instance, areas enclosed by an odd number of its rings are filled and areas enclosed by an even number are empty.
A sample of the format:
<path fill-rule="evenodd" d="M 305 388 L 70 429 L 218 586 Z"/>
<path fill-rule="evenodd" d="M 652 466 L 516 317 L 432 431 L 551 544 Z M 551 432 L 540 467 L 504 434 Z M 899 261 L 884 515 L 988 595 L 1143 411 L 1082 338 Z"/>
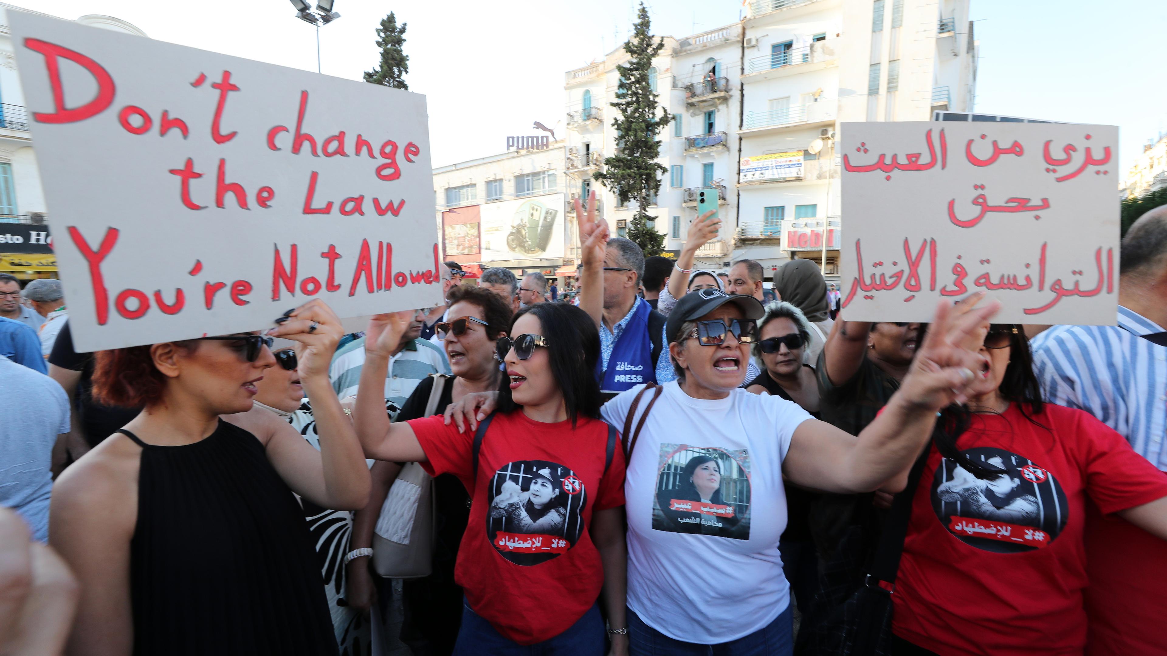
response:
<path fill-rule="evenodd" d="M 997 388 L 997 393 L 1011 404 L 1016 404 L 1021 416 L 1029 423 L 1049 431 L 1049 427 L 1034 418 L 1044 412 L 1046 402 L 1041 398 L 1041 384 L 1033 371 L 1033 351 L 1029 350 L 1029 340 L 1025 336 L 1025 330 L 1013 323 L 993 323 L 988 332 L 1009 334 L 1009 364 L 1005 368 L 1005 376 Z M 983 480 L 995 479 L 1004 473 L 1002 469 L 985 467 L 965 456 L 956 446 L 957 439 L 969 430 L 971 421 L 967 407 L 958 405 L 945 407 L 936 421 L 932 442 L 941 455 L 956 461 L 973 476 Z"/>

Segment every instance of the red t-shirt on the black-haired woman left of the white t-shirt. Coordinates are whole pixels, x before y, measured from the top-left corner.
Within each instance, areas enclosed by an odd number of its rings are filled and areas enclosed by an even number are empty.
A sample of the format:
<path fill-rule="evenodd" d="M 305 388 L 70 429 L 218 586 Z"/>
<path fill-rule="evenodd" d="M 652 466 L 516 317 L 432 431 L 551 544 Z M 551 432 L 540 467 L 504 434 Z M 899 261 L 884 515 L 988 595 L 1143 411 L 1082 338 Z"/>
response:
<path fill-rule="evenodd" d="M 439 416 L 408 423 L 431 475 L 471 490 L 454 578 L 475 613 L 519 644 L 550 640 L 596 602 L 603 564 L 588 528 L 596 510 L 624 504 L 619 437 L 605 473 L 608 425 L 580 417 L 544 424 L 522 410 L 495 414 L 471 472 L 474 432 Z"/>

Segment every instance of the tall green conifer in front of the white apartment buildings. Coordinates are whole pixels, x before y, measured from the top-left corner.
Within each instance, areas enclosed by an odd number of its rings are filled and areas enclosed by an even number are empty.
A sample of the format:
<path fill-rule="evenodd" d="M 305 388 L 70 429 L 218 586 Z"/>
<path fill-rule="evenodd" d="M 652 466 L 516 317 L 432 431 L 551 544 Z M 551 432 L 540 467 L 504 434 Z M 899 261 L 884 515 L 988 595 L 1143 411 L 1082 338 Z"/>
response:
<path fill-rule="evenodd" d="M 636 214 L 628 228 L 628 238 L 644 250 L 645 256 L 663 252 L 664 235 L 656 231 L 656 217 L 647 211 L 649 201 L 661 190 L 661 175 L 669 169 L 657 163 L 661 141 L 657 140 L 672 117 L 666 110 L 657 113 L 656 93 L 649 85 L 652 57 L 664 48 L 664 41 L 652 36 L 649 12 L 641 2 L 633 37 L 624 43 L 627 64 L 616 67 L 620 86 L 612 106 L 620 116 L 612 120 L 616 130 L 616 154 L 605 158 L 605 170 L 592 177 L 610 189 L 621 203 L 636 201 Z"/>

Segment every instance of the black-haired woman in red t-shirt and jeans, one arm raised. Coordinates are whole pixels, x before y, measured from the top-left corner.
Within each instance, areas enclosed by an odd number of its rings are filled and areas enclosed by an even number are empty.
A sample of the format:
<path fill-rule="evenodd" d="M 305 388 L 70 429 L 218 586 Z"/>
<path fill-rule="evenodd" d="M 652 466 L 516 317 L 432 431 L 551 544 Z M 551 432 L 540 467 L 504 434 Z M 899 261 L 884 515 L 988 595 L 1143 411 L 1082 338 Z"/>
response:
<path fill-rule="evenodd" d="M 354 419 L 370 458 L 418 461 L 470 490 L 455 567 L 466 608 L 454 654 L 537 644 L 602 655 L 601 591 L 613 654 L 627 654 L 624 458 L 599 418 L 595 322 L 566 303 L 515 316 L 515 337 L 498 340 L 506 377 L 481 444 L 442 416 L 389 423 L 385 374 L 408 322 L 410 313 L 370 321 Z"/>

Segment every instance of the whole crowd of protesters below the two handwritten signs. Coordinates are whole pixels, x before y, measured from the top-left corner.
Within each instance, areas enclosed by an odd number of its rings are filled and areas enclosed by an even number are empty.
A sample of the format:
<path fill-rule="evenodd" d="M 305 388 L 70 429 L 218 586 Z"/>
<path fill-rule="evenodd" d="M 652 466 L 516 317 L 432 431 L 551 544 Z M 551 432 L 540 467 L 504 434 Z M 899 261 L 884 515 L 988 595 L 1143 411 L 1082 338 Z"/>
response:
<path fill-rule="evenodd" d="M 1167 210 L 1117 326 L 1044 330 L 847 321 L 811 260 L 697 268 L 710 215 L 673 260 L 575 214 L 562 288 L 448 261 L 358 334 L 77 353 L 0 274 L 0 654 L 1167 654 Z"/>

